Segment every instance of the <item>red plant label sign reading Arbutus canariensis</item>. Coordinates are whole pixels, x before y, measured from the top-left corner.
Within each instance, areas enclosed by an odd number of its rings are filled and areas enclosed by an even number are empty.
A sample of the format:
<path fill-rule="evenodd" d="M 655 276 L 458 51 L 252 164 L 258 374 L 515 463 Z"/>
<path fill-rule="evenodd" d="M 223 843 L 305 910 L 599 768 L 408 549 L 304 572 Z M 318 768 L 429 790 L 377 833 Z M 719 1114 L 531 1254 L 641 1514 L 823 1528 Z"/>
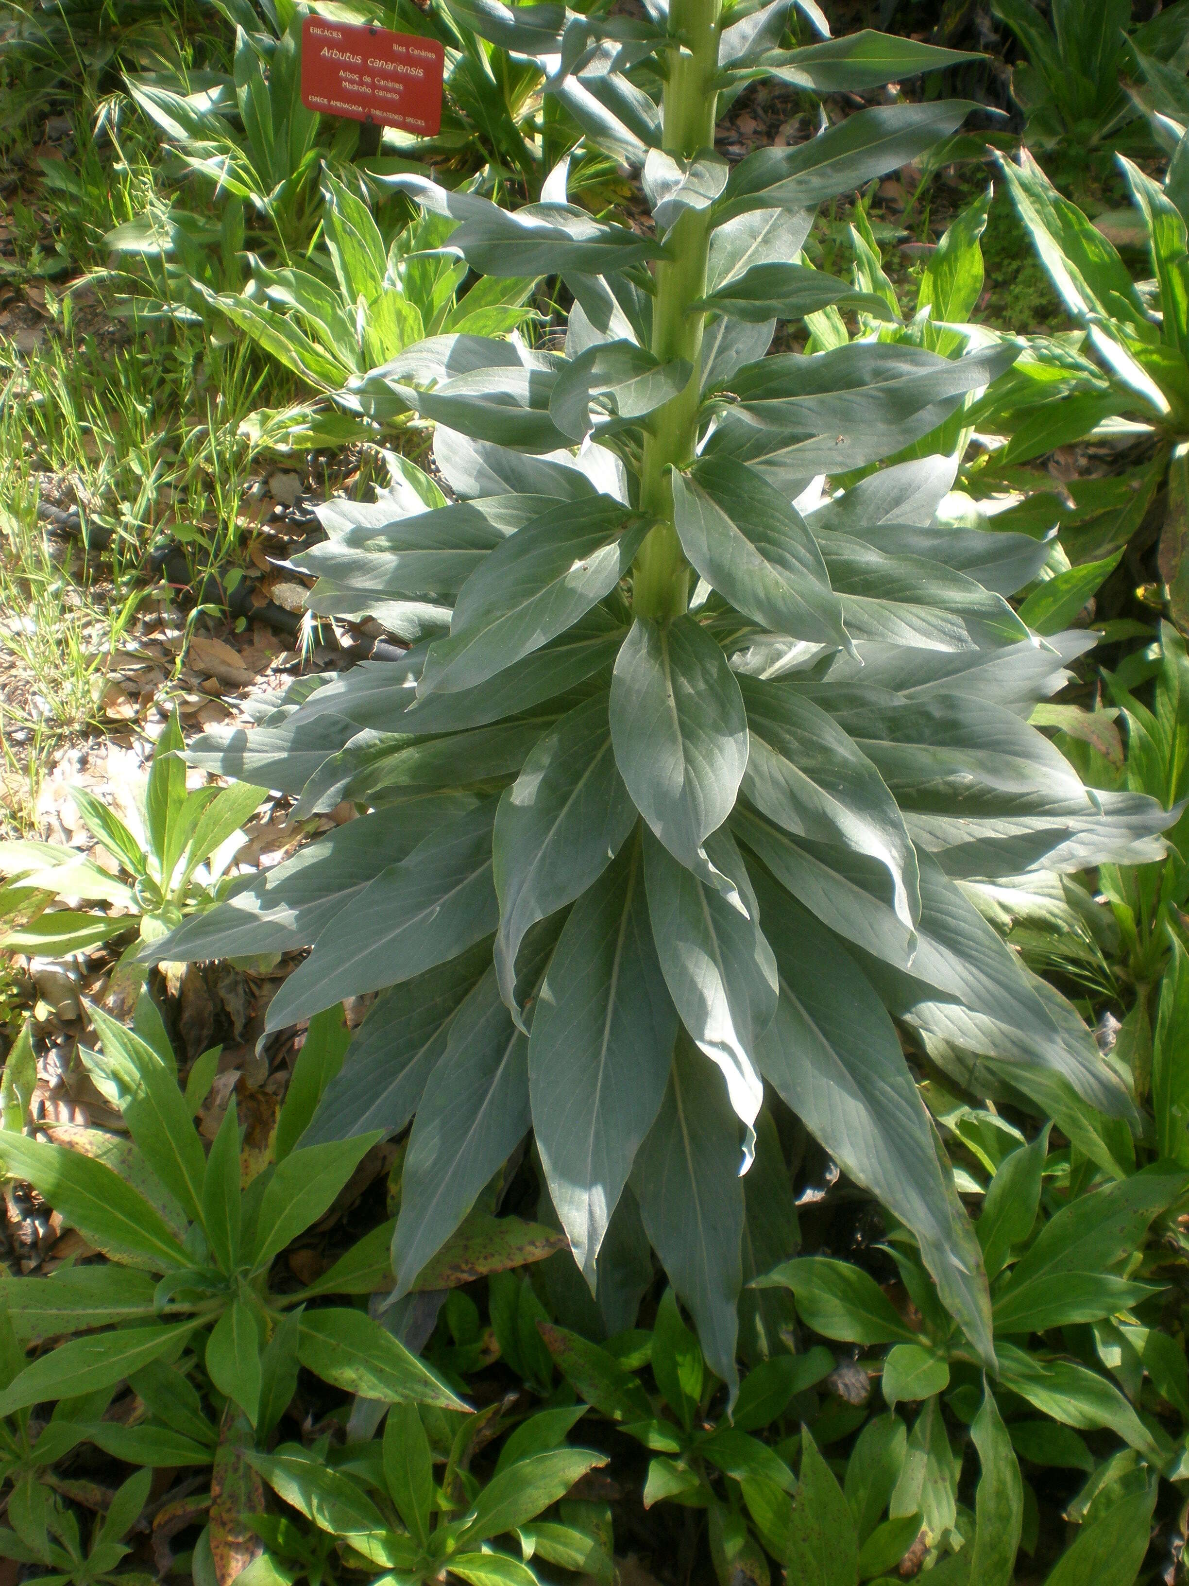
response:
<path fill-rule="evenodd" d="M 434 38 L 308 16 L 301 24 L 301 103 L 323 116 L 433 138 L 442 124 L 444 57 Z"/>

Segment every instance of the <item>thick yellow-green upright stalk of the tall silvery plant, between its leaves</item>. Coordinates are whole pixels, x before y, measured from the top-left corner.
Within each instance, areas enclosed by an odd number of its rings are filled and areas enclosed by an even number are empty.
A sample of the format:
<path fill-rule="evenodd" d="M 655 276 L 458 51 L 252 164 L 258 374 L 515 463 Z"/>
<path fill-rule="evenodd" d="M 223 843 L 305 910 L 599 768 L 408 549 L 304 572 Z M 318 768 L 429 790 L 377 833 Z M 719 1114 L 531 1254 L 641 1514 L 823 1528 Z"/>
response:
<path fill-rule="evenodd" d="M 713 146 L 718 94 L 720 0 L 674 0 L 669 6 L 669 81 L 664 87 L 664 151 L 688 160 Z M 680 396 L 653 414 L 644 438 L 640 509 L 661 522 L 640 546 L 634 568 L 634 607 L 661 622 L 690 601 L 690 565 L 674 528 L 669 468 L 693 462 L 698 444 L 704 314 L 690 305 L 705 293 L 710 246 L 709 209 L 686 209 L 666 238 L 669 259 L 656 265 L 652 351 L 661 363 L 685 358 L 693 374 Z"/>

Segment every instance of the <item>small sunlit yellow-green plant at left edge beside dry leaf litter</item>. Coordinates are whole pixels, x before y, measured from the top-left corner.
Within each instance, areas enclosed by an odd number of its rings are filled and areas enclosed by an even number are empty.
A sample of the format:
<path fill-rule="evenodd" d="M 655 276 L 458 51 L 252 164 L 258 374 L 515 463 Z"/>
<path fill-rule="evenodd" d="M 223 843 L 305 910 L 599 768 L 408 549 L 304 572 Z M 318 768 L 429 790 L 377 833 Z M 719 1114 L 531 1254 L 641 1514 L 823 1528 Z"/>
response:
<path fill-rule="evenodd" d="M 209 909 L 231 883 L 227 874 L 244 841 L 243 825 L 265 790 L 187 790 L 182 730 L 174 711 L 157 739 L 144 787 L 120 820 L 87 788 L 71 788 L 82 825 L 117 871 L 55 842 L 0 842 L 0 950 L 60 958 L 136 933 L 160 940 L 181 920 Z M 52 907 L 70 899 L 65 907 Z M 79 909 L 109 904 L 117 914 Z"/>

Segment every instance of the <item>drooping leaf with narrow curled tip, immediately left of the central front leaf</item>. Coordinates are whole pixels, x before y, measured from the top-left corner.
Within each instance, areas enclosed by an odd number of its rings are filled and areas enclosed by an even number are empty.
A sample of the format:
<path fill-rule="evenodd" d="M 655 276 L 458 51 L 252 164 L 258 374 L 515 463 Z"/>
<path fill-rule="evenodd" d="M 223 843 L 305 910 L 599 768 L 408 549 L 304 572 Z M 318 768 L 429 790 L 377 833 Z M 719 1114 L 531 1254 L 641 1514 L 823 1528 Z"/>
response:
<path fill-rule="evenodd" d="M 514 1017 L 515 960 L 525 933 L 580 896 L 618 853 L 634 823 L 636 806 L 612 752 L 607 695 L 596 695 L 541 737 L 499 799 L 495 961 Z"/>

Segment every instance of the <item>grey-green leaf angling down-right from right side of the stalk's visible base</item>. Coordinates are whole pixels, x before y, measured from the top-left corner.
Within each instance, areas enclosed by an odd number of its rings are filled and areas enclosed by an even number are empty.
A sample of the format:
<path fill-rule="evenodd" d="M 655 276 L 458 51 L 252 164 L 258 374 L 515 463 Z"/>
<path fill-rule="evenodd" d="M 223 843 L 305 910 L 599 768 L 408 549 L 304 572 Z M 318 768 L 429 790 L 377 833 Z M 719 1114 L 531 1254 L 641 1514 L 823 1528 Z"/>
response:
<path fill-rule="evenodd" d="M 848 646 L 821 552 L 778 490 L 721 458 L 672 476 L 674 522 L 696 571 L 774 633 Z"/>

